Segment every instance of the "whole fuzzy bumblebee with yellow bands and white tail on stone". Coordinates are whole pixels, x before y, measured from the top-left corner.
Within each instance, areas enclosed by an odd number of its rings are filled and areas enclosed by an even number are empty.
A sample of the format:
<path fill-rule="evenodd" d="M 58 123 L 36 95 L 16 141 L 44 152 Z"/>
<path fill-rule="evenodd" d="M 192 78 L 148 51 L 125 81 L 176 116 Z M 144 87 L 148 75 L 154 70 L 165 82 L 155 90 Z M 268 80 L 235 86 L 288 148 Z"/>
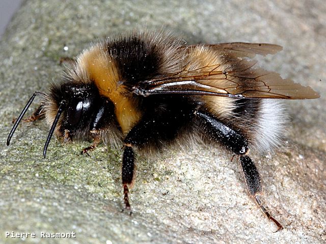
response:
<path fill-rule="evenodd" d="M 25 121 L 45 118 L 64 142 L 93 140 L 123 146 L 122 185 L 130 210 L 134 150 L 159 152 L 191 138 L 218 143 L 239 156 L 250 196 L 278 230 L 282 225 L 262 205 L 261 179 L 249 148 L 269 150 L 280 142 L 286 115 L 278 99 L 314 99 L 310 87 L 256 68 L 256 54 L 275 54 L 271 44 L 186 45 L 161 33 L 132 33 L 92 44 L 71 60 L 60 84 L 35 92 L 16 120 L 7 145 L 36 96 L 42 102 Z M 187 143 L 183 140 L 182 143 Z"/>

